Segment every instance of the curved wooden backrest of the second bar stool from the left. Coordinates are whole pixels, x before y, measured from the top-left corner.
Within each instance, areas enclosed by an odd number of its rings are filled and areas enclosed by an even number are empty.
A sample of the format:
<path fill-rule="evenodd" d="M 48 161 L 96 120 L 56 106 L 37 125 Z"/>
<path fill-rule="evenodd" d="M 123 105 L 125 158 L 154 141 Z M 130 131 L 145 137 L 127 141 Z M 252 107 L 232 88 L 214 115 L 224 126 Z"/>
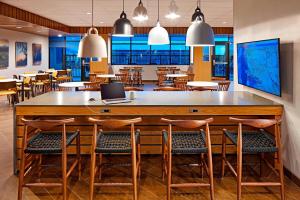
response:
<path fill-rule="evenodd" d="M 142 118 L 138 117 L 134 119 L 95 119 L 93 117 L 89 117 L 89 121 L 105 128 L 118 129 L 128 125 L 134 125 L 136 123 L 139 123 L 142 121 Z"/>

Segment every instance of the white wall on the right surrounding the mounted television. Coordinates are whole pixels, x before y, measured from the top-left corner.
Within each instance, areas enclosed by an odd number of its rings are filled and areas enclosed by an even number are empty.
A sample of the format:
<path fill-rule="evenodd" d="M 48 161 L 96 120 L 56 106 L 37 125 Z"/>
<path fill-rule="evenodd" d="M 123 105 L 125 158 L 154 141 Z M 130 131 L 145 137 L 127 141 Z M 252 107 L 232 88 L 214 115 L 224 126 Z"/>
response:
<path fill-rule="evenodd" d="M 236 57 L 235 89 L 247 90 L 284 105 L 284 166 L 300 178 L 300 1 L 234 0 L 235 44 L 277 37 L 281 40 L 282 97 L 239 85 Z"/>

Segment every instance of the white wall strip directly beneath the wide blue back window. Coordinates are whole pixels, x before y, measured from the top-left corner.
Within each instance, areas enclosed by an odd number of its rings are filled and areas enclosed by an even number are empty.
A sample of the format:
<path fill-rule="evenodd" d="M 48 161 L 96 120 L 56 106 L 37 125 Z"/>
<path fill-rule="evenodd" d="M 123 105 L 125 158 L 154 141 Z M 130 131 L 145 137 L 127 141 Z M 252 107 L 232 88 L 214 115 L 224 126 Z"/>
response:
<path fill-rule="evenodd" d="M 140 66 L 140 65 L 139 65 Z M 156 69 L 160 65 L 145 65 L 143 67 L 143 80 L 157 80 L 156 76 Z M 188 68 L 190 67 L 189 65 L 161 65 L 161 66 L 166 66 L 166 67 L 177 67 L 181 69 L 182 71 L 187 71 Z M 128 65 L 112 65 L 112 72 L 113 73 L 119 73 L 120 68 L 128 67 Z"/>

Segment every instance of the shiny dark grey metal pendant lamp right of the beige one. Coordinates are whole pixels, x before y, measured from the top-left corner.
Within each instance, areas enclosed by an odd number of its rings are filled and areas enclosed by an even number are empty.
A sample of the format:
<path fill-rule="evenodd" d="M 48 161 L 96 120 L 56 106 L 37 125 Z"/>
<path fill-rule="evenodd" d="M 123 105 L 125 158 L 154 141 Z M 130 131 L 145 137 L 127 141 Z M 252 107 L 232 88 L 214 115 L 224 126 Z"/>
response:
<path fill-rule="evenodd" d="M 124 0 L 123 0 L 123 11 L 120 18 L 117 19 L 113 27 L 113 36 L 117 37 L 133 37 L 133 26 L 130 20 L 127 19 L 127 15 L 124 12 Z"/>

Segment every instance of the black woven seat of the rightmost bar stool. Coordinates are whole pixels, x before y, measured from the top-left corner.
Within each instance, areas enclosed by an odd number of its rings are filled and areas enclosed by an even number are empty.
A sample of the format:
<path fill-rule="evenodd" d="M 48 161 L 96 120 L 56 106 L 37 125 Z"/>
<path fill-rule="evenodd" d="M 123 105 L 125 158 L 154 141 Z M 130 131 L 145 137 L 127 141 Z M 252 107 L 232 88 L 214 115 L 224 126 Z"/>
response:
<path fill-rule="evenodd" d="M 225 131 L 226 136 L 237 145 L 237 132 Z M 272 153 L 278 149 L 274 137 L 261 129 L 259 131 L 243 131 L 243 153 Z"/>

